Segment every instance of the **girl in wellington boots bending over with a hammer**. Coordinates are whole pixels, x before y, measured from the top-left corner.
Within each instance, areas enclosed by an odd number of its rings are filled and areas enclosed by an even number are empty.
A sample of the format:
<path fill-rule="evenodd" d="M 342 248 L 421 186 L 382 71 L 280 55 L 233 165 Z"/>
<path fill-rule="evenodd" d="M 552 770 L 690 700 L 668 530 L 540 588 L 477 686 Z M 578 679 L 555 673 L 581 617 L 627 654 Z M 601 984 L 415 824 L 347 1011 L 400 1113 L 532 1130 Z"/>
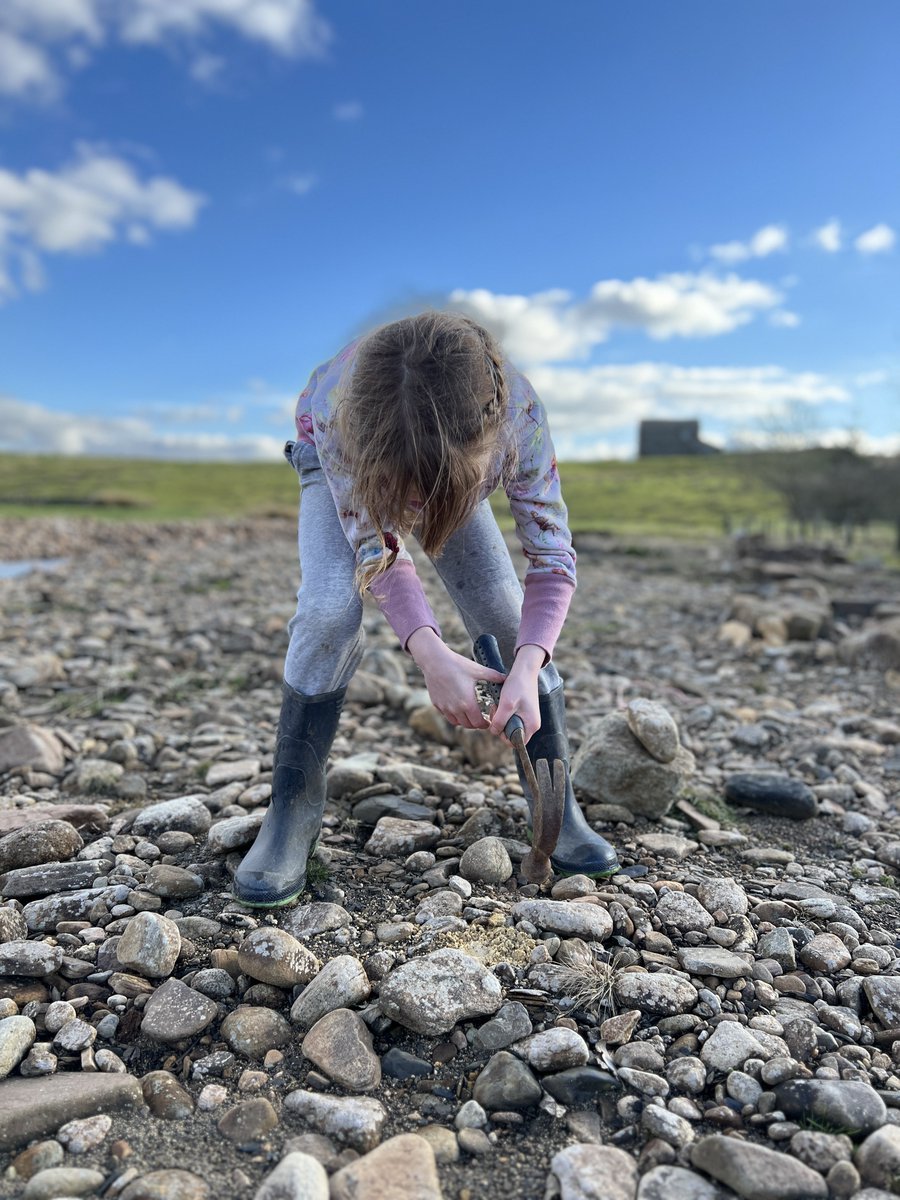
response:
<path fill-rule="evenodd" d="M 362 658 L 370 592 L 452 725 L 500 736 L 518 713 L 528 754 L 566 763 L 553 865 L 607 875 L 616 851 L 588 826 L 568 778 L 563 682 L 551 662 L 575 589 L 546 414 L 487 332 L 458 313 L 392 322 L 318 367 L 296 406 L 286 456 L 300 475 L 300 569 L 272 768 L 272 796 L 234 876 L 247 905 L 302 892 L 325 805 L 325 763 L 347 684 Z M 487 497 L 502 484 L 528 558 L 524 596 Z M 455 654 L 403 538 L 413 534 L 474 640 L 494 634 L 503 676 Z M 492 719 L 475 680 L 502 683 Z M 532 798 L 526 792 L 529 810 Z"/>

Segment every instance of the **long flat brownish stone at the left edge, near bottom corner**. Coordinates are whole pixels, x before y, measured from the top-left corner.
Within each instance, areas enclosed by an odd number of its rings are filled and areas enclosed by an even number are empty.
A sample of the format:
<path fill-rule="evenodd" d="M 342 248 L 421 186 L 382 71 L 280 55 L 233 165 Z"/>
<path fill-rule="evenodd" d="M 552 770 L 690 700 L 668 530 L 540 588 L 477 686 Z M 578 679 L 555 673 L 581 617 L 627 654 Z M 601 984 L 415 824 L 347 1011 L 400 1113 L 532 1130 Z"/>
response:
<path fill-rule="evenodd" d="M 55 1133 L 61 1124 L 97 1112 L 143 1108 L 133 1075 L 72 1072 L 0 1082 L 0 1150 Z"/>

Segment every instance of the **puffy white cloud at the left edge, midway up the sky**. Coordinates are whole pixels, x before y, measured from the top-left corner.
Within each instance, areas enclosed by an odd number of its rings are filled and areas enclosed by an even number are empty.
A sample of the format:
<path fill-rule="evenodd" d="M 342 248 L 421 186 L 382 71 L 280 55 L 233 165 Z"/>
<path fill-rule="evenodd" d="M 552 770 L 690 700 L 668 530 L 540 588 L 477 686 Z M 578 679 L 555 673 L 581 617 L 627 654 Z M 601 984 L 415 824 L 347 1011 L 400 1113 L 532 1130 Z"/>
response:
<path fill-rule="evenodd" d="M 152 229 L 190 228 L 205 203 L 164 175 L 142 179 L 126 160 L 80 145 L 59 170 L 17 174 L 0 169 L 0 265 L 6 294 L 14 294 L 10 263 L 19 264 L 22 286 L 43 282 L 38 252 L 86 253 L 127 239 L 145 242 Z M 0 286 L 0 296 L 4 289 Z"/>

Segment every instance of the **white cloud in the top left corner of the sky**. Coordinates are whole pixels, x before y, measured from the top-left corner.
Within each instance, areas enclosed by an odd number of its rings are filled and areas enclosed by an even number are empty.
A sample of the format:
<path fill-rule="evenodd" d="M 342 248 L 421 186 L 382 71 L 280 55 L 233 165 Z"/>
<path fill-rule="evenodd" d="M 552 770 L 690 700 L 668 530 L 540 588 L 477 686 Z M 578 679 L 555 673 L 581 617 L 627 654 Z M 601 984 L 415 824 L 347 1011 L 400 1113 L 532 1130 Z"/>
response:
<path fill-rule="evenodd" d="M 222 30 L 284 58 L 319 55 L 331 40 L 313 0 L 2 0 L 0 92 L 52 95 L 66 68 L 84 66 L 91 50 L 115 41 L 199 46 L 191 73 L 209 83 L 221 66 L 203 42 Z"/>

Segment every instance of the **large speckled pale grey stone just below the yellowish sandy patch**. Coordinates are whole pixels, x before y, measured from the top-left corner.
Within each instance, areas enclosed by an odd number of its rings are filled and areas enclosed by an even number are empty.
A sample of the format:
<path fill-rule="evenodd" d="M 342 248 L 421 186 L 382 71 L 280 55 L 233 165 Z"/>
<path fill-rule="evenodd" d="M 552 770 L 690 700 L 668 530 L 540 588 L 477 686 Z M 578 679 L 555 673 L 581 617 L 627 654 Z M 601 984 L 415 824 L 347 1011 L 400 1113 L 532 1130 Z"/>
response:
<path fill-rule="evenodd" d="M 449 1033 L 457 1021 L 500 1007 L 497 977 L 461 950 L 434 950 L 394 970 L 382 983 L 379 1003 L 392 1021 L 416 1033 Z"/>

